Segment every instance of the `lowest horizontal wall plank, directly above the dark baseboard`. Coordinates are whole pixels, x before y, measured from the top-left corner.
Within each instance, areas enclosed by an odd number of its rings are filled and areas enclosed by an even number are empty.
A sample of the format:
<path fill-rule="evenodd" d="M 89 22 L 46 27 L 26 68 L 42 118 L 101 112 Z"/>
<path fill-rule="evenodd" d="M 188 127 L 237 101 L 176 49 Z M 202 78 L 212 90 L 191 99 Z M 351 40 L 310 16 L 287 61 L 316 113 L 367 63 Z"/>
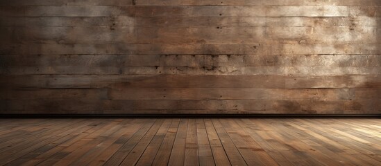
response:
<path fill-rule="evenodd" d="M 379 113 L 380 100 L 6 100 L 4 113 Z M 55 111 L 52 112 L 51 110 Z"/>

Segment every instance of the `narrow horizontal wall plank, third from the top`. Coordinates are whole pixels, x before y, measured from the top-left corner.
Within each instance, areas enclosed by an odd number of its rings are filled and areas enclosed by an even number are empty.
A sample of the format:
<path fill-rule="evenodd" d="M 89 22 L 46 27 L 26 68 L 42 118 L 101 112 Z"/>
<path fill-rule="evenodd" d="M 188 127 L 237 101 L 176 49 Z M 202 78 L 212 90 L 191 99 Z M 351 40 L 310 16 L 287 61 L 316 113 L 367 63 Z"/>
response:
<path fill-rule="evenodd" d="M 1 26 L 380 26 L 381 17 L 1 17 Z"/>

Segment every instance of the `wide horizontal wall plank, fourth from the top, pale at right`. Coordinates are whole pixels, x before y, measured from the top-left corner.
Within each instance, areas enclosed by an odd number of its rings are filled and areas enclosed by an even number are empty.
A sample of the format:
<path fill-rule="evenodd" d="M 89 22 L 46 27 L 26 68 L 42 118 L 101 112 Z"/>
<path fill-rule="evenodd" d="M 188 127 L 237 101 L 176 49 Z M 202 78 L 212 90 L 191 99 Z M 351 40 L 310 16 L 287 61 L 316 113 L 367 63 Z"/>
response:
<path fill-rule="evenodd" d="M 60 44 L 379 44 L 381 28 L 339 27 L 6 27 L 0 28 L 1 43 Z M 83 35 L 83 36 L 80 36 Z M 183 34 L 183 35 L 178 35 Z M 336 34 L 336 35 L 332 35 Z M 14 36 L 17 35 L 17 38 Z"/>

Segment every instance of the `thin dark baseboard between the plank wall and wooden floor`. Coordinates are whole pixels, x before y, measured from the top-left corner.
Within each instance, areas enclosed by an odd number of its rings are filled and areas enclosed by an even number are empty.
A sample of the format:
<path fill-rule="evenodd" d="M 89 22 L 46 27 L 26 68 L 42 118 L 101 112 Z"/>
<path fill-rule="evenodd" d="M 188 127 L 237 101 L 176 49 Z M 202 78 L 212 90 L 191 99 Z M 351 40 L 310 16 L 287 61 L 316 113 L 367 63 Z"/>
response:
<path fill-rule="evenodd" d="M 381 118 L 381 114 L 0 114 L 0 118 Z"/>

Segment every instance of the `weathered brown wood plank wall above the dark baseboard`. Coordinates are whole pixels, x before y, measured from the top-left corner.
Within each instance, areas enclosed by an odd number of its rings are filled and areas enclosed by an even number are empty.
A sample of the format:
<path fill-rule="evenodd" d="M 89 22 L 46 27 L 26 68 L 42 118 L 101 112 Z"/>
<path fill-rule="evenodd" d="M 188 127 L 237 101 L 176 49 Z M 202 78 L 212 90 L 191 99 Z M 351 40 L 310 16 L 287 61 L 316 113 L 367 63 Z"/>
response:
<path fill-rule="evenodd" d="M 381 113 L 380 0 L 0 0 L 1 113 Z"/>

